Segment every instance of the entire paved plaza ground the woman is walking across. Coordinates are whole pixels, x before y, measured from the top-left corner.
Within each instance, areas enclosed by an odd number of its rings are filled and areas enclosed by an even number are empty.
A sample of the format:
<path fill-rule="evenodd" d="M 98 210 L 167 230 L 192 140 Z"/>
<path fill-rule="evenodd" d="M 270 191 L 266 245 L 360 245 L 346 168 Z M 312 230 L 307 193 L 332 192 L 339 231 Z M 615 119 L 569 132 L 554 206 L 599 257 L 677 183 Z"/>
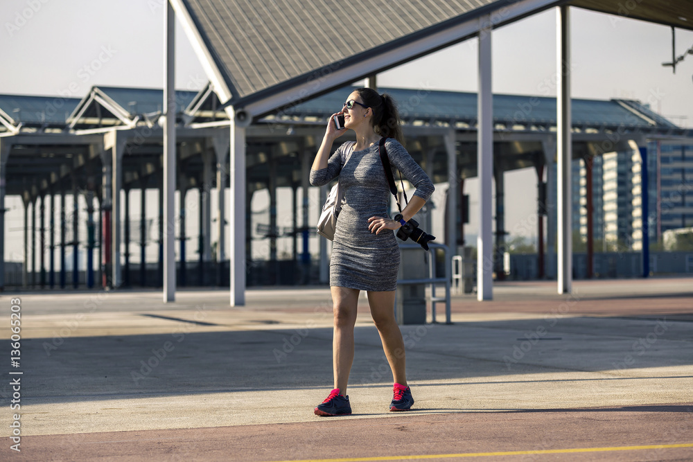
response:
<path fill-rule="evenodd" d="M 693 278 L 496 283 L 453 296 L 451 325 L 402 326 L 416 404 L 392 377 L 365 296 L 353 415 L 332 388 L 326 287 L 5 292 L 21 361 L 0 393 L 2 460 L 371 461 L 693 459 Z M 21 372 L 12 374 L 10 372 Z M 21 409 L 10 410 L 21 382 Z M 15 382 L 16 383 L 16 382 Z M 10 449 L 20 415 L 21 452 Z"/>

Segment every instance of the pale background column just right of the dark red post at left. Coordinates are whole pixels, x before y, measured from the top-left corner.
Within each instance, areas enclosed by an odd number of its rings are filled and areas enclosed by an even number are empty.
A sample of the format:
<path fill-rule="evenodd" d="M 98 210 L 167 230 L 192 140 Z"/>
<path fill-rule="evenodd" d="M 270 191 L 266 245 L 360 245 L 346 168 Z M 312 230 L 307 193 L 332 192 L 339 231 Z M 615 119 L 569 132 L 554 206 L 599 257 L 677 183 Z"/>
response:
<path fill-rule="evenodd" d="M 120 287 L 121 280 L 121 188 L 123 187 L 123 154 L 127 132 L 113 130 L 104 136 L 105 150 L 111 150 L 111 284 Z"/>

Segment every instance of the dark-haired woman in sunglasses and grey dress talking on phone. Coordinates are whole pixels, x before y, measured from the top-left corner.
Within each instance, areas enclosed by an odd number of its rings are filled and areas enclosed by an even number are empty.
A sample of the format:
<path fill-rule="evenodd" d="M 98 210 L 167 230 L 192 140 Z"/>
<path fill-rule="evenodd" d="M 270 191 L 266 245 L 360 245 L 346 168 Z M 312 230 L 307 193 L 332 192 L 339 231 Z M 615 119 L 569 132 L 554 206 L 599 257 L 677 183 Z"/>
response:
<path fill-rule="evenodd" d="M 333 123 L 338 114 L 344 114 L 342 130 L 337 130 Z M 330 157 L 332 143 L 347 129 L 356 133 L 356 143 L 342 144 Z M 383 136 L 388 137 L 385 148 L 393 168 L 400 170 L 416 186 L 414 197 L 402 211 L 401 222 L 387 217 L 387 205 L 392 194 L 380 161 L 379 141 Z M 360 88 L 349 95 L 341 112 L 330 117 L 322 145 L 313 161 L 310 171 L 313 186 L 328 184 L 339 176 L 345 191 L 330 263 L 334 304 L 334 389 L 315 408 L 318 416 L 351 414 L 347 382 L 353 362 L 353 328 L 361 290 L 367 291 L 371 316 L 394 377 L 390 411 L 408 411 L 414 404 L 407 386 L 404 341 L 394 317 L 400 254 L 392 231 L 416 215 L 434 188 L 426 173 L 401 145 L 402 140 L 399 116 L 392 98 L 387 94 L 381 96 L 373 89 Z"/>

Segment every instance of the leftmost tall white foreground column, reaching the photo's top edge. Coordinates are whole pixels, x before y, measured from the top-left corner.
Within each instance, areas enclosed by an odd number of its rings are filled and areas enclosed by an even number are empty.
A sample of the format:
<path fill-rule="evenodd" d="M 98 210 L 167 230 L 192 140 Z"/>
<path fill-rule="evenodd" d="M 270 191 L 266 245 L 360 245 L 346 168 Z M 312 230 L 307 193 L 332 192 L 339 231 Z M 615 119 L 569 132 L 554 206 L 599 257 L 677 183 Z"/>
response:
<path fill-rule="evenodd" d="M 164 303 L 175 301 L 175 13 L 164 12 Z"/>

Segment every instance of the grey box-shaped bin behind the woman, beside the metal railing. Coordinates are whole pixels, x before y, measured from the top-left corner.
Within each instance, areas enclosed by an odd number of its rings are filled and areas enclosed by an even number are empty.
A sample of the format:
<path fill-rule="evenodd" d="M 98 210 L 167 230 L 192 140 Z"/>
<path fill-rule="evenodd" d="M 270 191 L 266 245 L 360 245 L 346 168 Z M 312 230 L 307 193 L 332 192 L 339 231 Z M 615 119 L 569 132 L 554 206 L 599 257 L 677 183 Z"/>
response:
<path fill-rule="evenodd" d="M 426 323 L 426 283 L 399 283 L 399 281 L 425 280 L 430 264 L 430 255 L 421 246 L 400 244 L 401 263 L 397 277 L 395 316 L 397 323 Z"/>

